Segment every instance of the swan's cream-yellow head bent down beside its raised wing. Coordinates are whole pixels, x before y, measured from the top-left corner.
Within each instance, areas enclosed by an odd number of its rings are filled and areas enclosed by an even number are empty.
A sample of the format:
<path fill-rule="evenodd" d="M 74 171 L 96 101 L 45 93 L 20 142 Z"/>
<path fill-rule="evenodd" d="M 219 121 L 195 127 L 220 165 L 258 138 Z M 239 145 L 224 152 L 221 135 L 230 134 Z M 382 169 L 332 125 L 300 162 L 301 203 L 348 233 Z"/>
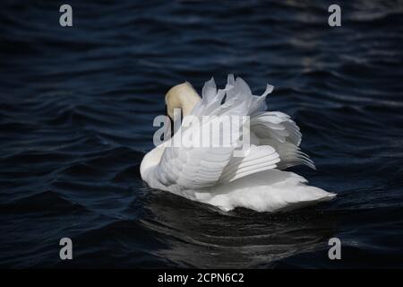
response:
<path fill-rule="evenodd" d="M 165 96 L 168 117 L 174 118 L 174 109 L 181 109 L 183 117 L 189 115 L 199 100 L 200 96 L 190 83 L 177 84 Z"/>

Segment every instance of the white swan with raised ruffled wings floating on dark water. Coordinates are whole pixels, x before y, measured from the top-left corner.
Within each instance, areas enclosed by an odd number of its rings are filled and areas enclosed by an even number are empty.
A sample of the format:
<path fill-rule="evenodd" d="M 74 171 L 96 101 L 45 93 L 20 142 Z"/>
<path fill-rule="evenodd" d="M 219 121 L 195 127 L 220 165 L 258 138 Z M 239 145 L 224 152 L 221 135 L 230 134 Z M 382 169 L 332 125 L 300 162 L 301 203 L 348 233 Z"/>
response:
<path fill-rule="evenodd" d="M 296 123 L 285 113 L 267 111 L 266 97 L 272 90 L 268 84 L 262 96 L 255 96 L 242 78 L 232 74 L 227 77 L 226 87 L 219 90 L 211 78 L 202 88 L 202 97 L 190 83 L 172 87 L 165 97 L 167 116 L 174 119 L 175 110 L 180 109 L 182 125 L 144 156 L 142 180 L 152 188 L 215 205 L 223 211 L 244 207 L 275 213 L 332 199 L 335 194 L 308 186 L 305 178 L 286 171 L 298 164 L 312 169 L 315 166 L 298 147 L 302 135 Z M 184 126 L 190 116 L 248 119 L 236 126 L 241 135 L 234 136 L 230 145 L 176 146 L 173 143 L 179 137 L 192 137 L 200 131 L 196 127 L 206 125 L 201 121 L 199 126 Z M 236 154 L 246 134 L 250 143 Z M 227 135 L 216 136 L 222 139 Z"/>

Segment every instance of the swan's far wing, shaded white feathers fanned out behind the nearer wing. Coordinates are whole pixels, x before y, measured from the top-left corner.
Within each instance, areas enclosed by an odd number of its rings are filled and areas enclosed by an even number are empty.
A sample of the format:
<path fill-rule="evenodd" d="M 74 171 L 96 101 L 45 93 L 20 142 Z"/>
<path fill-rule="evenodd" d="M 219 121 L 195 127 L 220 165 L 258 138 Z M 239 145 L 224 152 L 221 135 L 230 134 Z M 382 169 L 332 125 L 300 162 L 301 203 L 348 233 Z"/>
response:
<path fill-rule="evenodd" d="M 301 132 L 296 123 L 279 111 L 260 112 L 251 117 L 251 130 L 258 138 L 258 144 L 270 145 L 279 153 L 279 169 L 305 164 L 315 169 L 313 161 L 301 152 Z"/>

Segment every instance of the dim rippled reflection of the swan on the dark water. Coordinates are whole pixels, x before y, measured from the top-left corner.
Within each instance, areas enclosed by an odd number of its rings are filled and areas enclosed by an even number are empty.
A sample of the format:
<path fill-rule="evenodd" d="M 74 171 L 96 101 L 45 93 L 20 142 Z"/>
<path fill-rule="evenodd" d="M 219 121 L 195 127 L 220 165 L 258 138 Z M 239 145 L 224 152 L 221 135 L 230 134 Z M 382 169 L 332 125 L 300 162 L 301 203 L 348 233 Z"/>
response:
<path fill-rule="evenodd" d="M 269 214 L 215 207 L 150 190 L 142 222 L 167 248 L 156 251 L 172 266 L 270 267 L 274 261 L 318 248 L 332 237 L 335 219 L 314 209 Z"/>

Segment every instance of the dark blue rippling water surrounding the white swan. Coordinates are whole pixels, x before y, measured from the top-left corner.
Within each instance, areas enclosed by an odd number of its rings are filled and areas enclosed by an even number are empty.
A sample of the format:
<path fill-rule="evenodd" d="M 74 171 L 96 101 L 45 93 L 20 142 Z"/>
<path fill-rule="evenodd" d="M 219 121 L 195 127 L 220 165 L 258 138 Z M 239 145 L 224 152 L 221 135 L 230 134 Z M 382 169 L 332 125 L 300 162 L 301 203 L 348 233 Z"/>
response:
<path fill-rule="evenodd" d="M 403 4 L 2 1 L 0 266 L 403 267 Z M 219 212 L 141 181 L 164 94 L 242 76 L 291 115 L 338 194 Z M 59 239 L 73 240 L 73 260 Z M 330 261 L 338 237 L 342 259 Z"/>

